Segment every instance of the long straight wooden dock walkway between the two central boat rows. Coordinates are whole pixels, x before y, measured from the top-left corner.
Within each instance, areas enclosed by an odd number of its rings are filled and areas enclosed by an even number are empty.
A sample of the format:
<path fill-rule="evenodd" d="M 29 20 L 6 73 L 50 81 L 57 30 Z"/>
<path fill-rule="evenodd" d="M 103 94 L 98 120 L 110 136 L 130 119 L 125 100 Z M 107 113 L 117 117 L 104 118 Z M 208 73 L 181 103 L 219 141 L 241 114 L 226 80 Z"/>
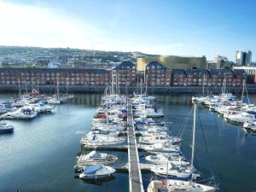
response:
<path fill-rule="evenodd" d="M 129 188 L 130 192 L 143 192 L 143 178 L 137 151 L 137 141 L 133 124 L 131 103 L 129 99 L 127 105 Z"/>

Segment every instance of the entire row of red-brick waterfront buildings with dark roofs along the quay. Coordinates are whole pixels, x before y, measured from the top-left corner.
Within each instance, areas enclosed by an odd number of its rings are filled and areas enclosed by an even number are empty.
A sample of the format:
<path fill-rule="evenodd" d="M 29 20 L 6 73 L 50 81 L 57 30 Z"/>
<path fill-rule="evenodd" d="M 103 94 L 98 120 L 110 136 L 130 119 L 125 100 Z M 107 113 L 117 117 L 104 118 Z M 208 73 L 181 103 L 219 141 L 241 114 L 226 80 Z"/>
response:
<path fill-rule="evenodd" d="M 241 86 L 248 75 L 244 69 L 169 69 L 158 61 L 148 63 L 144 73 L 136 73 L 131 61 L 113 70 L 86 68 L 0 68 L 0 85 L 12 86 L 60 84 L 71 86 L 106 86 L 118 82 L 120 87 L 147 83 L 148 86 Z M 254 83 L 254 76 L 252 79 Z"/>

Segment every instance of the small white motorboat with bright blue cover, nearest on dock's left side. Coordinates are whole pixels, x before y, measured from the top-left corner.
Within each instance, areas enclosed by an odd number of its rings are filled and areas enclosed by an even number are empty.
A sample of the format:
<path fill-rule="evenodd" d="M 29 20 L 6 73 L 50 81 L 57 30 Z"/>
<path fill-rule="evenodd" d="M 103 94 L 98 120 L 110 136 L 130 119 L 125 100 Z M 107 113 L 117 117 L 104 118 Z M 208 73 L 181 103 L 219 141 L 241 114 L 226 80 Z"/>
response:
<path fill-rule="evenodd" d="M 84 172 L 79 174 L 79 178 L 98 179 L 102 177 L 110 177 L 114 172 L 115 169 L 113 167 L 103 166 L 102 164 L 84 166 Z"/>

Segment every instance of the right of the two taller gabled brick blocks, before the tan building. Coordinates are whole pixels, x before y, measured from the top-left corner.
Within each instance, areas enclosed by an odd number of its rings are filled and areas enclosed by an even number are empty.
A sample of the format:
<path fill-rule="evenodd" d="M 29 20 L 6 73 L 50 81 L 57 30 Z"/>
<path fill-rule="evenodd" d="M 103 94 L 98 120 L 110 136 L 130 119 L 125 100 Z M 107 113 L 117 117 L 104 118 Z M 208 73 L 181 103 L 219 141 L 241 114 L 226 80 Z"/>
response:
<path fill-rule="evenodd" d="M 171 70 L 158 61 L 149 62 L 144 73 L 146 84 L 151 86 L 170 86 L 171 77 Z"/>

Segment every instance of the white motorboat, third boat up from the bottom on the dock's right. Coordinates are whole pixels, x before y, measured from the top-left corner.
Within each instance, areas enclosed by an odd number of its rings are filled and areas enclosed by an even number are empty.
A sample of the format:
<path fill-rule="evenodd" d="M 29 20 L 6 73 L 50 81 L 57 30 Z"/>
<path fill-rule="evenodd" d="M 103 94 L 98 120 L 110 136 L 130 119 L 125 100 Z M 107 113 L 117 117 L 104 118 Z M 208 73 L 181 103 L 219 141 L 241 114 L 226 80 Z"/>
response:
<path fill-rule="evenodd" d="M 167 162 L 175 166 L 188 166 L 190 164 L 188 160 L 184 160 L 183 156 L 179 154 L 150 154 L 145 159 L 157 165 L 166 164 Z"/>

